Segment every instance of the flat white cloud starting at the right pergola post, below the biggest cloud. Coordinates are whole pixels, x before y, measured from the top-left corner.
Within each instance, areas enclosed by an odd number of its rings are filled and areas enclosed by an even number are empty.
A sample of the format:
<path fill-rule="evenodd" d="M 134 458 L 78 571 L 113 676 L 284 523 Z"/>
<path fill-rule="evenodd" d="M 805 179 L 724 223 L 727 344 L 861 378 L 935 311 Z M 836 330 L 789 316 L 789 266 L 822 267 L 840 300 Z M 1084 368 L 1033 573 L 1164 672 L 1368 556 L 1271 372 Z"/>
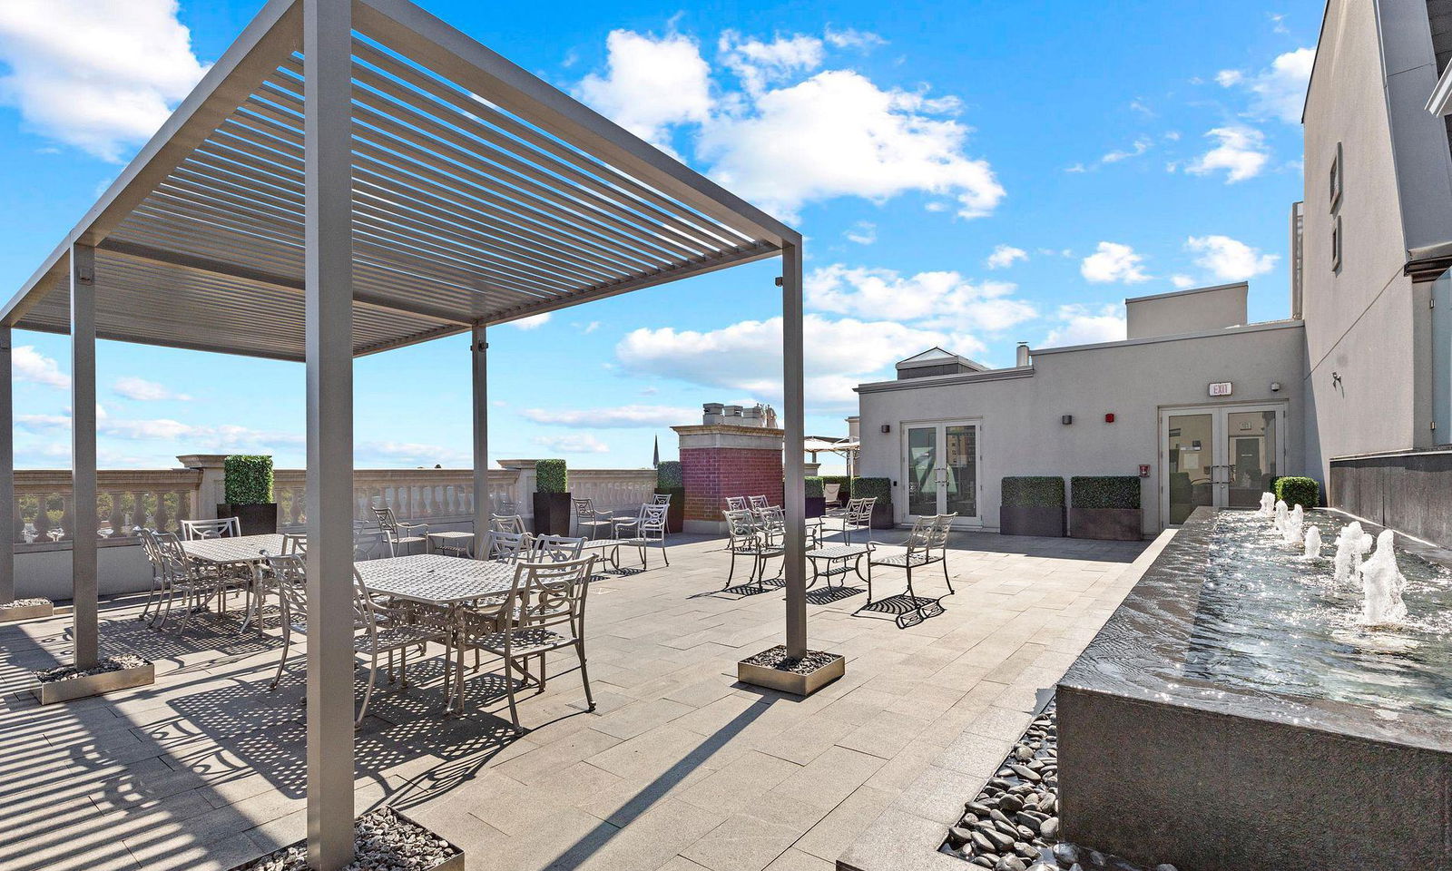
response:
<path fill-rule="evenodd" d="M 839 315 L 919 321 L 937 330 L 1006 330 L 1032 316 L 1027 302 L 1012 299 L 1009 282 L 967 282 L 955 271 L 923 271 L 910 277 L 890 269 L 842 264 L 812 270 L 803 285 L 807 308 Z"/>

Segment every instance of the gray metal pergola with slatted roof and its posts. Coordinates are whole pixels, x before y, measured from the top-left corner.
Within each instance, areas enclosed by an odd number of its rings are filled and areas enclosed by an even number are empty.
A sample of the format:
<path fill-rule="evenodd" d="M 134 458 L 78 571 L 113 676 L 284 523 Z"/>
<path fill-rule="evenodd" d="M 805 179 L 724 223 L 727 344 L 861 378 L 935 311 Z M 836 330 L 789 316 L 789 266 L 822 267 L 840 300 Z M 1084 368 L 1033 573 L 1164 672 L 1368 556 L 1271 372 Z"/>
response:
<path fill-rule="evenodd" d="M 308 843 L 353 851 L 353 359 L 781 257 L 784 422 L 803 438 L 802 237 L 407 0 L 270 0 L 0 309 L 71 335 L 76 662 L 97 658 L 96 340 L 306 363 Z M 13 528 L 13 437 L 0 530 Z M 802 453 L 786 453 L 787 647 L 806 652 Z M 0 536 L 0 601 L 13 598 Z M 324 736 L 325 740 L 324 740 Z"/>

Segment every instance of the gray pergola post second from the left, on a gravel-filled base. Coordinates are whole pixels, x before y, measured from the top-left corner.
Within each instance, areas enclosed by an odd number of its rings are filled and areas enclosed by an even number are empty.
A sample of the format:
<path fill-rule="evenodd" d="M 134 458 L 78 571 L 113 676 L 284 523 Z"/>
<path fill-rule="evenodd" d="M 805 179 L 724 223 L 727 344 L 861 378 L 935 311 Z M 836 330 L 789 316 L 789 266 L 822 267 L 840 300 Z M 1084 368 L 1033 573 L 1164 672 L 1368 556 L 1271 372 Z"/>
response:
<path fill-rule="evenodd" d="M 96 665 L 96 250 L 71 245 L 71 601 L 76 665 Z"/>

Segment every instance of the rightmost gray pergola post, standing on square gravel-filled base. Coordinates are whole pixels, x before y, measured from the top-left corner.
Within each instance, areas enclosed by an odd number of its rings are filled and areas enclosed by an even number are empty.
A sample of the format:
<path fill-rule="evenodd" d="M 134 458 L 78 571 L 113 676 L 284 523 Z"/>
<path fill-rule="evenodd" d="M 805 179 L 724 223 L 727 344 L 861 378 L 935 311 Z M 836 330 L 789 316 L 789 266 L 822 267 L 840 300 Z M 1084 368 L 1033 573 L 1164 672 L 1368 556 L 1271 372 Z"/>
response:
<path fill-rule="evenodd" d="M 802 245 L 781 248 L 781 412 L 786 430 L 783 475 L 787 539 L 783 571 L 787 581 L 787 656 L 807 652 L 806 502 L 807 482 L 802 443 L 806 437 L 802 372 Z"/>

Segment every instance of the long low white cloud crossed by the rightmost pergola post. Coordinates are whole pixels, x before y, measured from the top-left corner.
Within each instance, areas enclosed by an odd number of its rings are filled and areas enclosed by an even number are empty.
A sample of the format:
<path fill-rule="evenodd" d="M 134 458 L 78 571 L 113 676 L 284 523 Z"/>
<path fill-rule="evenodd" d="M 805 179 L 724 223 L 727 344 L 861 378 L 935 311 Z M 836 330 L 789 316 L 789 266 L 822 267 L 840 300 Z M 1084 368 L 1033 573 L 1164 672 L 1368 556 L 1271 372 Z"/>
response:
<path fill-rule="evenodd" d="M 896 321 L 804 318 L 806 401 L 809 411 L 857 408 L 852 392 L 864 376 L 932 345 L 974 354 L 984 350 L 970 335 L 918 330 Z M 781 318 L 742 321 L 722 330 L 636 330 L 616 345 L 620 363 L 642 375 L 672 377 L 707 388 L 738 390 L 767 402 L 781 401 Z"/>

